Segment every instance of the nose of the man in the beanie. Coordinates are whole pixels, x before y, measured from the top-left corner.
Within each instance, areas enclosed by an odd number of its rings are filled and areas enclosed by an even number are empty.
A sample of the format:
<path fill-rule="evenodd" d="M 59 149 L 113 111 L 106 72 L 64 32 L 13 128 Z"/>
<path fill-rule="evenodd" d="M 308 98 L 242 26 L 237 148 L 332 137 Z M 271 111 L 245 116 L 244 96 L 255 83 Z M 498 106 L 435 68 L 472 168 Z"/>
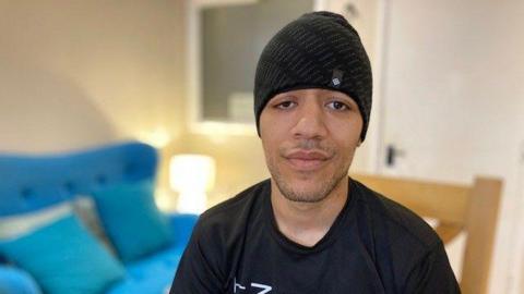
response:
<path fill-rule="evenodd" d="M 302 106 L 297 113 L 293 135 L 300 138 L 321 138 L 326 133 L 322 108 L 315 103 Z"/>

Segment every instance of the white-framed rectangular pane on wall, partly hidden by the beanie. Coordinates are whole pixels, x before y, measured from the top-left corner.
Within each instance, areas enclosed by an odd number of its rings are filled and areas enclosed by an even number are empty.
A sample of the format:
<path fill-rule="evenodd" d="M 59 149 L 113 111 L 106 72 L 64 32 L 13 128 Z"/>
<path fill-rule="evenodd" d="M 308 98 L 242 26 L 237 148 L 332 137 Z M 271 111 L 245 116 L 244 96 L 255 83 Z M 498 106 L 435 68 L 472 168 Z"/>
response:
<path fill-rule="evenodd" d="M 263 47 L 314 0 L 191 1 L 191 123 L 254 130 L 253 81 Z"/>

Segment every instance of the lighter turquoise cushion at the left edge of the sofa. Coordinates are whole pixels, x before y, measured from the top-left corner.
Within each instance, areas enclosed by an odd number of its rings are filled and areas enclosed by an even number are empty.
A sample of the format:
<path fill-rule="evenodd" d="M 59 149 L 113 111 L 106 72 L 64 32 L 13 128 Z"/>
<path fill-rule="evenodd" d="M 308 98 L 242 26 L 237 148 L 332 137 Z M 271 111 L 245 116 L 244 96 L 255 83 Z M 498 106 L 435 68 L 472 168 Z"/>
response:
<path fill-rule="evenodd" d="M 46 293 L 103 293 L 124 275 L 119 261 L 72 215 L 0 243 L 0 252 Z"/>

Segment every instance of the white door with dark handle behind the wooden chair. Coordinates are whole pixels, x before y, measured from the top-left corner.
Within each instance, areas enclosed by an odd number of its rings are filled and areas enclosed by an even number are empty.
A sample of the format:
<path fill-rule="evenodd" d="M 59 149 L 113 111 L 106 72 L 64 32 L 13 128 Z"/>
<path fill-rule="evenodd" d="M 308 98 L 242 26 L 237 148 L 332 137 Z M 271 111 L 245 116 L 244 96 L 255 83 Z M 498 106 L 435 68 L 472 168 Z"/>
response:
<path fill-rule="evenodd" d="M 520 228 L 524 2 L 381 3 L 376 172 L 452 183 L 471 183 L 475 175 L 503 179 L 490 293 L 517 293 L 511 281 L 522 273 L 512 269 L 520 256 L 512 232 Z"/>

